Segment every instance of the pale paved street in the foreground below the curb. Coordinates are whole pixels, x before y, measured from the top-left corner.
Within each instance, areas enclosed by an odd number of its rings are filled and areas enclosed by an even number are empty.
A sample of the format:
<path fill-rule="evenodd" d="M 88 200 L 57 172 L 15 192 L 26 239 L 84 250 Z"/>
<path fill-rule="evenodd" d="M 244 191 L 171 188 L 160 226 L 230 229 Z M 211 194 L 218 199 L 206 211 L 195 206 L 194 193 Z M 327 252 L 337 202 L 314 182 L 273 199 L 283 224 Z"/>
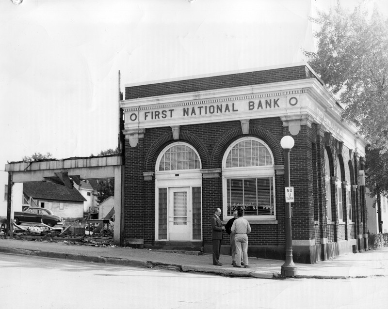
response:
<path fill-rule="evenodd" d="M 386 308 L 388 280 L 226 278 L 0 254 L 2 308 Z M 319 291 L 325 291 L 324 293 Z"/>

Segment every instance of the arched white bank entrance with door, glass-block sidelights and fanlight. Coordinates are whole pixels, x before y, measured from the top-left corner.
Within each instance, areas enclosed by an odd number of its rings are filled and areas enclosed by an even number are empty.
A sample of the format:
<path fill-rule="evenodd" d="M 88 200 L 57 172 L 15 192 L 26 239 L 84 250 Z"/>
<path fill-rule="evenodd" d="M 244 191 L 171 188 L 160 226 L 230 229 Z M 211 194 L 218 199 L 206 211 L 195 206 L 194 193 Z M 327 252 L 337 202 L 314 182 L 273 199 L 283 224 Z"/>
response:
<path fill-rule="evenodd" d="M 166 146 L 155 167 L 155 239 L 202 239 L 202 173 L 199 154 L 184 142 Z"/>

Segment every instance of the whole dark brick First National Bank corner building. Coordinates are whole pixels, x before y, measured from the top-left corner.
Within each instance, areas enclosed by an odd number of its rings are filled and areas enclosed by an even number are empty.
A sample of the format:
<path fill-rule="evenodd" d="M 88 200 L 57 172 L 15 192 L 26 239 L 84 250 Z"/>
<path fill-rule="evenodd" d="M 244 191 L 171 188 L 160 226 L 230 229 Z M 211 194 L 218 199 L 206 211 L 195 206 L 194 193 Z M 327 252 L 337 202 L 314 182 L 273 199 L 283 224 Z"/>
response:
<path fill-rule="evenodd" d="M 290 135 L 294 262 L 368 249 L 366 142 L 306 63 L 127 85 L 120 110 L 123 245 L 211 253 L 215 208 L 243 209 L 249 256 L 284 259 Z"/>

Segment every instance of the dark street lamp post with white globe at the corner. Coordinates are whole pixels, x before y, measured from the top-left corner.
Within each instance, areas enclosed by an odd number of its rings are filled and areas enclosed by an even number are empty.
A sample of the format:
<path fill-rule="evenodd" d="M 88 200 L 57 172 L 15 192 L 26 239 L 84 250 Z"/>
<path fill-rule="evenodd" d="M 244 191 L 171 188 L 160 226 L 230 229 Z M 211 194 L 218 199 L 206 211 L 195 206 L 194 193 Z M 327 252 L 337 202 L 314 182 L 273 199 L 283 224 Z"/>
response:
<path fill-rule="evenodd" d="M 284 178 L 286 187 L 290 186 L 290 150 L 294 146 L 294 139 L 291 136 L 284 136 L 280 145 L 284 149 L 285 167 Z M 286 203 L 286 261 L 281 267 L 281 275 L 292 277 L 296 275 L 296 266 L 292 261 L 292 234 L 291 234 L 291 202 Z"/>

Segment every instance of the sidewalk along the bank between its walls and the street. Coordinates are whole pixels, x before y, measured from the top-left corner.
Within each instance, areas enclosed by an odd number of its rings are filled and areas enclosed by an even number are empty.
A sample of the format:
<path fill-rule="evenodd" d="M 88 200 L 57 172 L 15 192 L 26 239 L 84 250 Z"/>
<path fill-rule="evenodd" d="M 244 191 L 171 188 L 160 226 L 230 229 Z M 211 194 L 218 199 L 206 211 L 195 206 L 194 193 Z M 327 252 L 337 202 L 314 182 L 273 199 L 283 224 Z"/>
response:
<path fill-rule="evenodd" d="M 191 255 L 129 247 L 89 247 L 64 243 L 0 239 L 0 252 L 92 263 L 109 263 L 182 272 L 202 272 L 229 277 L 281 278 L 284 261 L 249 258 L 249 268 L 231 265 L 222 255 L 222 266 L 212 264 L 211 254 Z M 362 253 L 348 253 L 316 264 L 295 263 L 294 278 L 365 278 L 388 276 L 388 247 Z"/>

